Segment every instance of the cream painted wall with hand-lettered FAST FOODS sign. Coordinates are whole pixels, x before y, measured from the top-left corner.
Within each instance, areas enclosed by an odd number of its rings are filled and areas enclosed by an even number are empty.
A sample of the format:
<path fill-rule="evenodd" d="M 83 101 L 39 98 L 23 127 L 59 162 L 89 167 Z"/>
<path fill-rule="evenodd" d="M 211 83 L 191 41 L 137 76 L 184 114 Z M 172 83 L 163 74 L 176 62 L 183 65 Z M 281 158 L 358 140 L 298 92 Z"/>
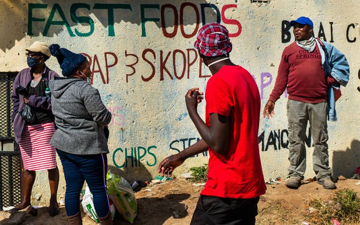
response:
<path fill-rule="evenodd" d="M 24 49 L 34 41 L 58 43 L 85 53 L 93 85 L 113 113 L 109 125 L 109 169 L 129 181 L 157 175 L 157 166 L 200 137 L 187 114 L 188 89 L 204 90 L 209 70 L 193 42 L 204 23 L 220 22 L 231 33 L 233 62 L 254 75 L 262 108 L 274 86 L 283 49 L 293 40 L 288 21 L 308 16 L 316 36 L 347 56 L 350 81 L 337 102 L 338 122 L 329 123 L 330 164 L 334 175 L 351 175 L 360 165 L 360 19 L 358 0 L 0 0 L 0 72 L 26 67 Z M 114 4 L 116 3 L 116 4 Z M 121 4 L 120 4 L 121 3 Z M 54 57 L 48 67 L 61 74 Z M 359 73 L 360 74 L 360 73 Z M 360 78 L 360 75 L 359 75 Z M 276 102 L 275 117 L 261 118 L 259 147 L 265 178 L 287 175 L 287 95 Z M 205 102 L 198 107 L 205 119 Z M 306 177 L 312 171 L 309 139 Z M 175 174 L 208 160 L 187 160 Z M 61 171 L 61 163 L 58 161 Z M 47 173 L 38 173 L 34 193 L 48 201 Z M 59 197 L 65 182 L 60 173 Z M 39 202 L 35 202 L 39 203 Z"/>

